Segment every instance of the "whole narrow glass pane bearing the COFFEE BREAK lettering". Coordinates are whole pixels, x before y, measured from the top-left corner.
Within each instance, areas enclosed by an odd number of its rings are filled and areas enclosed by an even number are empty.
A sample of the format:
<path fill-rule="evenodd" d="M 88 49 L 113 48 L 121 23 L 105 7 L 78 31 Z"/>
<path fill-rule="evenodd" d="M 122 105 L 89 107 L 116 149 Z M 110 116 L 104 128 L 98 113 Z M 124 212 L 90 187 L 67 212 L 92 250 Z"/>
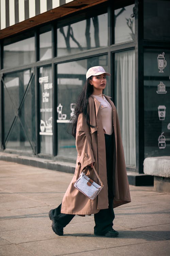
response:
<path fill-rule="evenodd" d="M 40 153 L 53 154 L 52 141 L 52 68 L 39 68 L 39 147 Z"/>

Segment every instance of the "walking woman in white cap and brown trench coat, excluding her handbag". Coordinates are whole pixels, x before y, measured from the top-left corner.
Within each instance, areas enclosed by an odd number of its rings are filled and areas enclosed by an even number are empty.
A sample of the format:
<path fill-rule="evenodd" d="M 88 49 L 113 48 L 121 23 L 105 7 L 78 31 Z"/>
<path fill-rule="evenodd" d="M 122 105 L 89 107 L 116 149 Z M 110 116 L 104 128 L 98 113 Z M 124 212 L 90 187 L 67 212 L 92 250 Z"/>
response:
<path fill-rule="evenodd" d="M 106 75 L 110 76 L 101 66 L 88 69 L 74 111 L 72 134 L 78 152 L 75 173 L 62 204 L 49 212 L 52 229 L 59 236 L 75 214 L 94 214 L 95 235 L 116 237 L 119 233 L 113 229 L 113 208 L 131 202 L 118 114 L 110 97 L 103 95 Z M 104 185 L 94 200 L 73 186 L 85 168 L 98 183 L 92 165 Z"/>

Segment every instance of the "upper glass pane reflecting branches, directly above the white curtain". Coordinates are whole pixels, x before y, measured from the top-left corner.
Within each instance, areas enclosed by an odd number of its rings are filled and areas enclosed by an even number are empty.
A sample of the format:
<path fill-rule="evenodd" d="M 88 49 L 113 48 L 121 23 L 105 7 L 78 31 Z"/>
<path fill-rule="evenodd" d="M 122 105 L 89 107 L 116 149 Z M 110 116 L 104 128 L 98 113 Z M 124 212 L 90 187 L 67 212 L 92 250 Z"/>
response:
<path fill-rule="evenodd" d="M 135 18 L 131 18 L 134 6 L 115 10 L 115 44 L 135 41 Z"/>

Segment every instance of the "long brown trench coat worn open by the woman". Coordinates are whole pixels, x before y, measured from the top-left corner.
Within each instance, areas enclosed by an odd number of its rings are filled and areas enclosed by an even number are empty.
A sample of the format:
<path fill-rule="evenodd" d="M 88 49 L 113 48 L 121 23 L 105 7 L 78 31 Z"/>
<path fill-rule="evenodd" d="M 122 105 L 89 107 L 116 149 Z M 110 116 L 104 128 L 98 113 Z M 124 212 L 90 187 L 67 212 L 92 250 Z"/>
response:
<path fill-rule="evenodd" d="M 113 208 L 115 208 L 119 205 L 131 202 L 131 197 L 118 114 L 113 101 L 110 99 L 111 97 L 105 97 L 112 106 L 113 127 L 115 133 L 113 155 Z M 76 148 L 78 152 L 76 168 L 73 179 L 64 195 L 61 208 L 61 212 L 66 214 L 94 214 L 98 213 L 101 209 L 108 208 L 106 150 L 100 114 L 100 102 L 96 98 L 90 96 L 88 107 L 90 124 L 95 127 L 89 127 L 84 115 L 82 113 L 79 114 L 76 131 Z M 104 185 L 103 189 L 94 200 L 88 199 L 73 186 L 83 169 L 92 162 L 95 162 L 94 166 Z M 98 182 L 95 172 L 90 167 L 87 175 L 89 175 L 92 180 Z"/>

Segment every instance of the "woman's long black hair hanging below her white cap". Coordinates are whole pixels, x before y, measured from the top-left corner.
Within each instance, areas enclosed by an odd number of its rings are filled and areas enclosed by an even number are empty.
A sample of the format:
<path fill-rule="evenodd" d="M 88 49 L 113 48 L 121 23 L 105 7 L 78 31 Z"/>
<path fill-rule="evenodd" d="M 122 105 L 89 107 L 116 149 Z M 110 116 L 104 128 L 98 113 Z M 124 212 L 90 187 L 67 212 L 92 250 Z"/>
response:
<path fill-rule="evenodd" d="M 89 80 L 92 80 L 92 76 L 90 76 L 86 80 L 84 87 L 77 99 L 77 102 L 74 108 L 74 115 L 71 118 L 71 121 L 72 121 L 71 134 L 73 135 L 74 138 L 76 135 L 77 121 L 80 113 L 83 113 L 85 115 L 87 125 L 90 126 L 89 115 L 87 113 L 87 106 L 88 106 L 88 98 L 93 92 L 93 86 L 89 83 Z"/>

